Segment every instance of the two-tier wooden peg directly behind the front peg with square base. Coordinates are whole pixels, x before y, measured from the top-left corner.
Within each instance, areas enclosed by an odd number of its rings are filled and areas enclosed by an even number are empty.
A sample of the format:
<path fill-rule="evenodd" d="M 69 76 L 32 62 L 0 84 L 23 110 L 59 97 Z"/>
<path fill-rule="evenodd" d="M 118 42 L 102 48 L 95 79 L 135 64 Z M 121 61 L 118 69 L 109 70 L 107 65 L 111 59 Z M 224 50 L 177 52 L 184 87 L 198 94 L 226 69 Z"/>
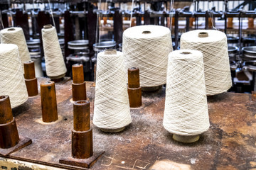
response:
<path fill-rule="evenodd" d="M 82 64 L 73 64 L 73 83 L 72 94 L 73 101 L 86 101 L 86 85 Z"/>

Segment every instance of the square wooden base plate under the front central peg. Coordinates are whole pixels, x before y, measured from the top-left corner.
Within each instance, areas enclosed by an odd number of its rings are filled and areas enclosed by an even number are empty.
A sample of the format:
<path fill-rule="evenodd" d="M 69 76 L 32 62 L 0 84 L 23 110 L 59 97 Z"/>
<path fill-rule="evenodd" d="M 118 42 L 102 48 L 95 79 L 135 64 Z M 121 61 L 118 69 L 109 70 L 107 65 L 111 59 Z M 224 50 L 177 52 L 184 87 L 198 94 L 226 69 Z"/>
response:
<path fill-rule="evenodd" d="M 79 167 L 83 167 L 83 168 L 90 168 L 92 167 L 93 164 L 95 164 L 95 162 L 97 162 L 98 159 L 100 159 L 100 157 L 102 157 L 102 154 L 104 154 L 104 152 L 94 152 L 92 157 L 88 158 L 88 159 L 75 159 L 73 157 L 67 157 L 64 159 L 60 159 L 60 164 L 68 164 L 71 166 L 79 166 Z"/>

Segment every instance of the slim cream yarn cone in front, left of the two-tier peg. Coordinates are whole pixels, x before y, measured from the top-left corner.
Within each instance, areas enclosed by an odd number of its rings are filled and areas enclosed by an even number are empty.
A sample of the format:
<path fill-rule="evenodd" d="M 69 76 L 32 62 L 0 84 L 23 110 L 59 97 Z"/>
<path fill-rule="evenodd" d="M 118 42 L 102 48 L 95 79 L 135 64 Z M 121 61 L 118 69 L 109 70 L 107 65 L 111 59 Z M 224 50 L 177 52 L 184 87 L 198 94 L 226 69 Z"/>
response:
<path fill-rule="evenodd" d="M 107 132 L 122 130 L 132 123 L 122 52 L 100 52 L 96 75 L 93 123 Z"/>

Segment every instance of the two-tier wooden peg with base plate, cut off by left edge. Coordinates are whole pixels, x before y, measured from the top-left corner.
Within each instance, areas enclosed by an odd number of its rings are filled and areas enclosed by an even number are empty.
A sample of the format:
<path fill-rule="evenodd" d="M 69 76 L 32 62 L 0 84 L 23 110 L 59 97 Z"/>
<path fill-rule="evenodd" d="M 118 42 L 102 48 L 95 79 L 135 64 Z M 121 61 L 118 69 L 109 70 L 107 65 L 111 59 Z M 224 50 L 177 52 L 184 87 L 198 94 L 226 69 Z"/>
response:
<path fill-rule="evenodd" d="M 31 139 L 18 135 L 9 96 L 0 96 L 0 155 L 9 155 L 31 143 Z"/>

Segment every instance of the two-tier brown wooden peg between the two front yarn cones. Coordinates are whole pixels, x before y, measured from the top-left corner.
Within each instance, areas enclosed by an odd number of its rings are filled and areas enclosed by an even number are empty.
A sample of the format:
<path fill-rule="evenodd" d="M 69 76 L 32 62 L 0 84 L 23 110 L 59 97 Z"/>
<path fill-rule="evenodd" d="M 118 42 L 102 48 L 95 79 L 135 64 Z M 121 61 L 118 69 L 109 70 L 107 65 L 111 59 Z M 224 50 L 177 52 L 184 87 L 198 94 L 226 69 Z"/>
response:
<path fill-rule="evenodd" d="M 139 68 L 137 67 L 128 69 L 128 95 L 131 108 L 142 106 L 142 87 L 139 86 Z"/>

